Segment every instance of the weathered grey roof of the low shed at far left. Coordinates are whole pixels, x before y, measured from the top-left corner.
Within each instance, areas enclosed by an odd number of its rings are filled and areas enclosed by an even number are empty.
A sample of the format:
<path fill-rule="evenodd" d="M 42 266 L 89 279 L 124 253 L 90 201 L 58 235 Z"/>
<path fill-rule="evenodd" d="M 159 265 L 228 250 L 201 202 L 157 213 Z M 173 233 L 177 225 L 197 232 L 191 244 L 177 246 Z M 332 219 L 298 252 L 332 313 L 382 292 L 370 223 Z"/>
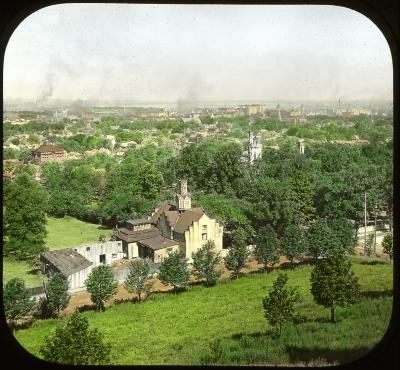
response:
<path fill-rule="evenodd" d="M 92 262 L 71 248 L 41 253 L 41 259 L 49 261 L 64 276 L 72 275 L 92 265 Z"/>

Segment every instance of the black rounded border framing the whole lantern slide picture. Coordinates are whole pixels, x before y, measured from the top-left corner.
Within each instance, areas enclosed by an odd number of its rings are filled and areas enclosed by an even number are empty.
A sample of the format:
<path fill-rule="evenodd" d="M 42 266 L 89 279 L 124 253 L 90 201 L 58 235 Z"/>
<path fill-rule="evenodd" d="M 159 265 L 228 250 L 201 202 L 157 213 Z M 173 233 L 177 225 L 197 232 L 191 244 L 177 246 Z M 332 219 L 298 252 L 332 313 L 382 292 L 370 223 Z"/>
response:
<path fill-rule="evenodd" d="M 0 62 L 1 62 L 1 74 L 0 74 L 0 85 L 3 86 L 3 62 L 4 54 L 7 47 L 7 43 L 11 34 L 16 27 L 30 14 L 35 11 L 49 6 L 62 3 L 159 3 L 159 4 L 281 4 L 281 5 L 336 5 L 346 8 L 353 9 L 362 13 L 368 17 L 386 37 L 392 53 L 393 62 L 393 122 L 394 122 L 394 169 L 398 167 L 399 162 L 399 127 L 400 124 L 400 91 L 399 91 L 399 53 L 400 53 L 400 26 L 399 26 L 399 12 L 400 12 L 400 0 L 264 0 L 264 1 L 93 1 L 93 0 L 82 0 L 82 1 L 57 1 L 57 0 L 14 0 L 4 1 L 0 4 Z M 3 103 L 3 89 L 0 90 L 0 101 Z M 3 110 L 1 110 L 1 117 L 3 117 Z M 315 369 L 382 369 L 382 370 L 394 370 L 400 369 L 400 277 L 399 277 L 399 264 L 400 264 L 400 250 L 399 248 L 399 195 L 396 191 L 399 189 L 399 178 L 396 176 L 396 172 L 393 171 L 393 184 L 394 184 L 394 211 L 393 211 L 393 223 L 394 223 L 394 240 L 395 240 L 395 251 L 394 251 L 394 269 L 393 269 L 393 309 L 392 317 L 382 340 L 364 357 L 352 362 L 343 364 L 340 366 L 329 366 L 329 367 L 314 367 Z M 2 217 L 2 216 L 1 216 Z M 3 265 L 0 264 L 1 281 Z M 3 297 L 0 297 L 0 303 L 3 305 Z M 19 343 L 14 339 L 11 332 L 8 330 L 4 311 L 1 310 L 1 329 L 0 329 L 0 348 L 1 352 L 5 354 L 2 357 L 1 363 L 7 364 L 14 368 L 40 368 L 40 369 L 66 369 L 72 366 L 65 366 L 60 364 L 50 364 L 46 361 L 40 360 L 29 352 L 27 352 Z M 107 368 L 107 366 L 74 366 L 73 368 L 84 368 L 84 369 L 98 369 Z M 108 366 L 111 367 L 111 366 Z M 117 367 L 117 366 L 115 366 Z M 121 368 L 133 368 L 139 366 L 118 366 Z M 142 366 L 140 366 L 142 367 Z M 145 366 L 143 366 L 145 367 Z M 154 368 L 162 368 L 162 366 L 146 366 Z M 193 366 L 194 368 L 200 366 Z M 233 366 L 224 368 L 234 368 Z M 273 368 L 273 367 L 272 367 Z M 293 369 L 294 367 L 279 367 L 279 369 Z"/>

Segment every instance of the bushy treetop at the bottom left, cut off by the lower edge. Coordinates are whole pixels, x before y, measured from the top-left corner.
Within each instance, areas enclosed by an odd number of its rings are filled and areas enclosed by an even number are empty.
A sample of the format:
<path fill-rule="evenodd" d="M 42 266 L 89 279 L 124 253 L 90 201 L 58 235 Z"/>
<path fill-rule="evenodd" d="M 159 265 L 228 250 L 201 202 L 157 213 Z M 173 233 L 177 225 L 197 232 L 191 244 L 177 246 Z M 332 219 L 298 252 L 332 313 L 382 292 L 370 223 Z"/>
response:
<path fill-rule="evenodd" d="M 39 353 L 46 361 L 68 365 L 106 365 L 111 346 L 97 329 L 89 329 L 88 319 L 75 312 L 46 336 Z"/>

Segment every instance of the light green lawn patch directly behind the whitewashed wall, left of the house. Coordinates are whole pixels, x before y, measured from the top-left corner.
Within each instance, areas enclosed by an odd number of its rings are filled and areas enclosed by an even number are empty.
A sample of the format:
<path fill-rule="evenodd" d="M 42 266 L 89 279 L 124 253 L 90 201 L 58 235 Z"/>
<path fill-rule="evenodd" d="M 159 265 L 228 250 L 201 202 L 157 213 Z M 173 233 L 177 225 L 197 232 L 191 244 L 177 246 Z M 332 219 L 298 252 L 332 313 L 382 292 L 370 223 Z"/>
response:
<path fill-rule="evenodd" d="M 100 235 L 108 238 L 111 230 L 73 217 L 47 217 L 46 245 L 50 250 L 96 243 Z"/>

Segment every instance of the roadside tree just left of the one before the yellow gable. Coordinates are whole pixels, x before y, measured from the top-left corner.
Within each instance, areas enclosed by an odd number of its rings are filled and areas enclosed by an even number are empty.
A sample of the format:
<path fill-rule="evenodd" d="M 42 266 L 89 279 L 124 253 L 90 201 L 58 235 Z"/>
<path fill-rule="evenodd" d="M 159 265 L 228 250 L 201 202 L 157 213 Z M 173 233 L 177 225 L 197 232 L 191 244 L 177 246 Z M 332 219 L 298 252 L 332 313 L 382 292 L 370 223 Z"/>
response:
<path fill-rule="evenodd" d="M 173 285 L 175 292 L 186 286 L 189 272 L 183 252 L 173 252 L 161 263 L 158 278 L 165 285 Z"/>

